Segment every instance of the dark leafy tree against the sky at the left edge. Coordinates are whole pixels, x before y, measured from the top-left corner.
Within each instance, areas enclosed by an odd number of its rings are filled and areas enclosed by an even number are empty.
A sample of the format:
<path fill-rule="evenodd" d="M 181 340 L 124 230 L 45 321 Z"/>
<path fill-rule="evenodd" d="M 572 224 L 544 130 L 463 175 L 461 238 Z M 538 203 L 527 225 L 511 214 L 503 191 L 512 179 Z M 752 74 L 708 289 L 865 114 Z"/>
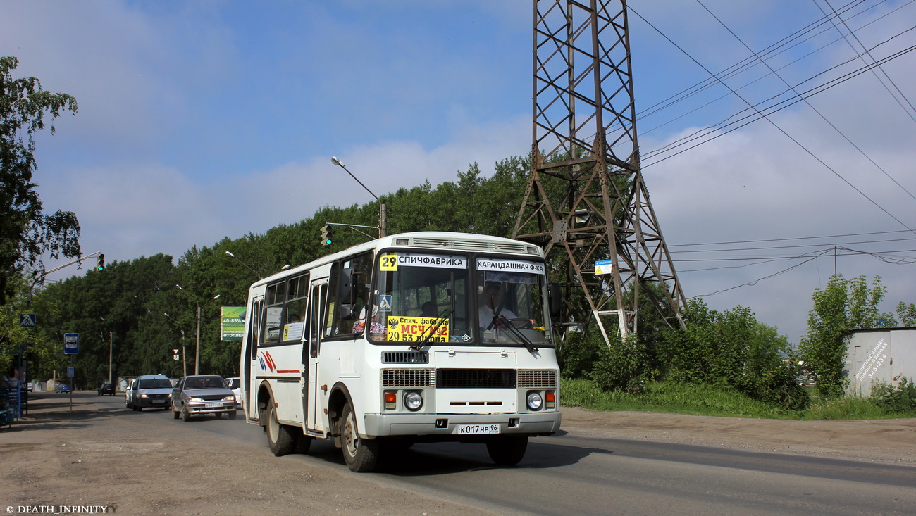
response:
<path fill-rule="evenodd" d="M 34 77 L 13 79 L 18 64 L 16 58 L 0 58 L 0 305 L 12 293 L 12 276 L 27 267 L 43 271 L 42 254 L 80 255 L 76 215 L 44 213 L 38 185 L 32 182 L 37 167 L 33 135 L 44 129 L 46 114 L 52 119 L 65 111 L 75 114 L 76 99 L 44 91 Z"/>

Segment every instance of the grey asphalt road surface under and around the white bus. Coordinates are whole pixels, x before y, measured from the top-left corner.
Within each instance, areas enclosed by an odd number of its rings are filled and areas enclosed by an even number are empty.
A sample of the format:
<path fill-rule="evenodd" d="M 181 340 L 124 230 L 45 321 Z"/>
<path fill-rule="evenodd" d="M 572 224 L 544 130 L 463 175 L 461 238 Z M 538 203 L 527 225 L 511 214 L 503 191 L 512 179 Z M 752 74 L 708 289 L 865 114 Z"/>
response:
<path fill-rule="evenodd" d="M 100 401 L 123 407 L 123 396 Z M 139 415 L 139 414 L 137 414 Z M 168 433 L 168 411 L 144 411 Z M 192 422 L 193 423 L 193 422 Z M 239 446 L 267 442 L 260 428 L 202 419 L 181 425 L 222 435 Z M 610 429 L 613 431 L 613 429 Z M 496 468 L 485 446 L 419 444 L 387 457 L 376 473 L 353 474 L 340 451 L 316 441 L 299 461 L 354 480 L 450 500 L 496 514 L 913 514 L 916 468 L 802 455 L 595 437 L 574 425 L 531 439 L 515 468 Z"/>

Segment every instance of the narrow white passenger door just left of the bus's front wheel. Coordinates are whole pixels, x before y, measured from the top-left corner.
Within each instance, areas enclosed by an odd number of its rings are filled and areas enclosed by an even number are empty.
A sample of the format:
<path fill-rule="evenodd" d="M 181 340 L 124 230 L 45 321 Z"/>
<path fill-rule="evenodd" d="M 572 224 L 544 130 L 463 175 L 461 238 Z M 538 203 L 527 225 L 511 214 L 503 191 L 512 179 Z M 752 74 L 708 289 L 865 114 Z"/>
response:
<path fill-rule="evenodd" d="M 318 386 L 318 369 L 321 362 L 321 336 L 327 278 L 311 282 L 311 295 L 306 318 L 307 334 L 302 346 L 302 414 L 306 430 L 324 434 L 322 424 L 322 397 Z"/>

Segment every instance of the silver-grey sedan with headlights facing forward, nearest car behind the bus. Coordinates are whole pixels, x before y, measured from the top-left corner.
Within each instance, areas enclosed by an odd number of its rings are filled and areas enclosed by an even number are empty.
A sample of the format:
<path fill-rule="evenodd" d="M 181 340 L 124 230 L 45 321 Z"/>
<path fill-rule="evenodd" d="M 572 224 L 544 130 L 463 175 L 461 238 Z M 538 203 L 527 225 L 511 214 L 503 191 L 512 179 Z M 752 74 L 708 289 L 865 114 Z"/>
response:
<path fill-rule="evenodd" d="M 235 419 L 235 394 L 226 386 L 222 376 L 202 374 L 185 376 L 175 385 L 171 393 L 172 416 L 185 421 L 191 415 L 214 414 L 221 417 L 228 414 Z"/>

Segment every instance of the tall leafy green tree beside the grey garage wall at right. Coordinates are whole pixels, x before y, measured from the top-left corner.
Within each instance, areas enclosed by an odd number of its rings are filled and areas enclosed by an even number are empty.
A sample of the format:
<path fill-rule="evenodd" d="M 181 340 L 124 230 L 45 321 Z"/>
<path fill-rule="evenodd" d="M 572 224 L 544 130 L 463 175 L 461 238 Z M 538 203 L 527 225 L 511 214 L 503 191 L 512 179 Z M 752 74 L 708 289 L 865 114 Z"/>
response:
<path fill-rule="evenodd" d="M 845 337 L 856 328 L 876 328 L 881 317 L 878 304 L 887 291 L 875 276 L 869 287 L 865 275 L 846 280 L 831 276 L 827 286 L 814 290 L 814 307 L 808 315 L 808 333 L 802 337 L 801 358 L 805 369 L 817 374 L 818 392 L 839 395 L 844 386 Z"/>

